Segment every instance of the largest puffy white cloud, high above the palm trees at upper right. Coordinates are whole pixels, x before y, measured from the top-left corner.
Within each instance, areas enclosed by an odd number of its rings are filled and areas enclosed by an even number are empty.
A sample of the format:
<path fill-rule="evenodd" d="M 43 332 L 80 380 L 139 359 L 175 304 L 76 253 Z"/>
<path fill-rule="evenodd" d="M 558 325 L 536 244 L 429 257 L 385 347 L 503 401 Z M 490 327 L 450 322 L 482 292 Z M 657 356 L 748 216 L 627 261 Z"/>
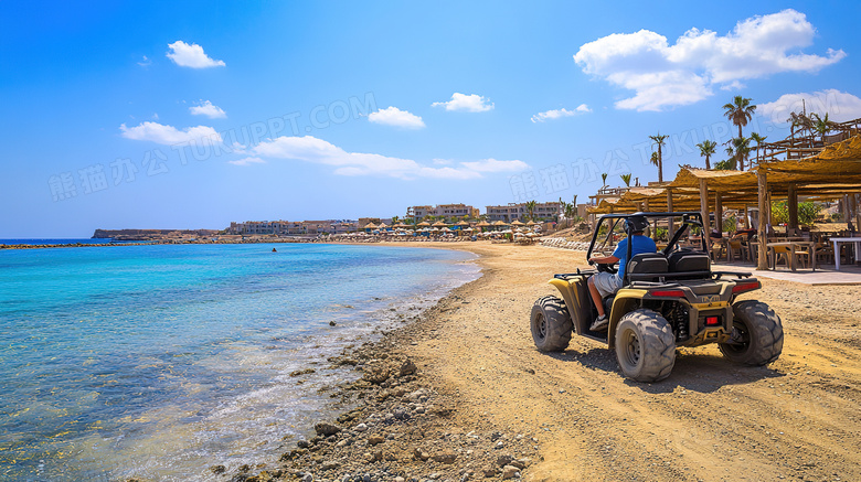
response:
<path fill-rule="evenodd" d="M 614 33 L 580 47 L 574 61 L 584 73 L 635 92 L 619 100 L 620 109 L 661 110 L 700 101 L 714 87 L 741 88 L 741 81 L 782 72 L 818 72 L 846 57 L 805 54 L 816 29 L 804 13 L 784 10 L 736 23 L 720 36 L 691 29 L 673 45 L 656 32 Z"/>

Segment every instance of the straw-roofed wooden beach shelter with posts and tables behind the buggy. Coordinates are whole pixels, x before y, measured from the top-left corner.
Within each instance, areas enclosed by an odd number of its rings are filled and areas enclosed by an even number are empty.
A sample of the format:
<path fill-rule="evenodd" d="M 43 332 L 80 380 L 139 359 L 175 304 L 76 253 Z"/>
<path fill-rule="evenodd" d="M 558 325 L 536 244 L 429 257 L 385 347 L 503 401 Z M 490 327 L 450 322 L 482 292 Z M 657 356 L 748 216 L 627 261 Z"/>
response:
<path fill-rule="evenodd" d="M 669 182 L 620 189 L 616 196 L 606 196 L 609 191 L 604 190 L 592 196 L 595 204 L 589 208 L 591 222 L 594 222 L 594 215 L 605 213 L 699 211 L 710 224 L 704 233 L 706 245 L 713 253 L 726 254 L 727 259 L 734 250 L 745 251 L 748 263 L 755 264 L 757 269 L 767 269 L 774 268 L 777 254 L 784 254 L 783 258 L 787 264 L 791 261 L 795 271 L 797 260 L 815 261 L 811 258 L 822 255 L 836 258 L 839 269 L 841 256 L 857 259 L 861 255 L 858 247 L 854 253 L 852 250 L 852 244 L 861 244 L 861 237 L 855 234 L 861 224 L 860 127 L 861 119 L 833 125 L 830 130 L 838 132 L 833 136 L 812 132 L 799 136 L 794 129 L 787 139 L 758 144 L 748 160 L 748 171 L 682 165 L 676 179 Z M 837 203 L 846 228 L 811 233 L 800 226 L 799 199 Z M 786 229 L 782 233 L 776 233 L 773 219 L 773 206 L 777 202 L 785 202 L 787 210 Z M 731 243 L 730 238 L 721 236 L 722 223 L 713 219 L 723 221 L 726 210 L 737 211 L 743 224 L 748 218 L 755 219 L 750 227 L 755 229 L 756 238 L 750 243 Z M 741 247 L 733 243 L 741 243 Z M 811 265 L 816 266 L 815 263 Z"/>

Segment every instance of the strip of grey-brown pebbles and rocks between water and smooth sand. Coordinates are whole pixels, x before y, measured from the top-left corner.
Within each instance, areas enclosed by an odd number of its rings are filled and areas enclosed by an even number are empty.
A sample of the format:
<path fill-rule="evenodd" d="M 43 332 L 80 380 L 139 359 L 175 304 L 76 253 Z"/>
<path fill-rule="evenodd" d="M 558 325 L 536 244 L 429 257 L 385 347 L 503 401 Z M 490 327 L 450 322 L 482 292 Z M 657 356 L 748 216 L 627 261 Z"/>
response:
<path fill-rule="evenodd" d="M 475 282 L 475 281 L 474 281 Z M 355 407 L 315 424 L 276 465 L 216 464 L 214 480 L 231 482 L 454 482 L 517 480 L 538 457 L 538 439 L 485 419 L 458 417 L 456 393 L 436 386 L 410 356 L 413 340 L 434 336 L 445 306 L 463 302 L 455 289 L 411 323 L 374 343 L 329 358 L 329 368 L 354 366 L 362 377 L 332 394 Z M 299 378 L 302 374 L 297 374 Z M 301 383 L 301 379 L 297 379 Z M 310 435 L 310 433 L 309 433 Z"/>

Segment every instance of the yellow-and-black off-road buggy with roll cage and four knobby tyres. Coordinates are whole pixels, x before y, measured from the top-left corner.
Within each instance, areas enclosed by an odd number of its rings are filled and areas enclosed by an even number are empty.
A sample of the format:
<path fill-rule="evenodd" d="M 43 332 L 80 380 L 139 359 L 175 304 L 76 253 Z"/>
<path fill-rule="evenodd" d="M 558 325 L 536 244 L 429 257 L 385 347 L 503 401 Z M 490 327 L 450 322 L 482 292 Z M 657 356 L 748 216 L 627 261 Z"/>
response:
<path fill-rule="evenodd" d="M 633 243 L 627 243 L 623 287 L 603 299 L 607 330 L 589 330 L 597 310 L 587 282 L 598 271 L 616 272 L 615 265 L 555 275 L 550 283 L 562 299 L 542 297 L 532 307 L 530 325 L 540 351 L 563 351 L 575 333 L 615 350 L 623 374 L 638 382 L 668 377 L 678 346 L 718 343 L 726 358 L 747 365 L 780 356 L 784 332 L 777 314 L 761 301 L 736 301 L 762 283 L 750 272 L 712 271 L 700 213 L 602 216 L 586 259 L 593 253 L 609 255 L 630 235 L 626 219 L 634 216 L 649 222 L 645 234 L 658 239 L 659 250 L 631 256 Z M 671 233 L 673 226 L 678 229 Z"/>

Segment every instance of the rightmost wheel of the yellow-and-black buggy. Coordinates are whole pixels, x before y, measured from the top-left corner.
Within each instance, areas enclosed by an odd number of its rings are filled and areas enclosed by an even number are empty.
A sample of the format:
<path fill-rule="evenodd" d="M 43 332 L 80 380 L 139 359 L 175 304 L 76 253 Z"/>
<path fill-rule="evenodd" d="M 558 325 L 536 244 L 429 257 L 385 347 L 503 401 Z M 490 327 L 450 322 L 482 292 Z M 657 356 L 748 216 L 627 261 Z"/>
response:
<path fill-rule="evenodd" d="M 767 365 L 784 350 L 784 328 L 780 317 L 762 301 L 747 300 L 733 304 L 733 328 L 736 343 L 719 345 L 723 356 L 745 365 Z"/>

